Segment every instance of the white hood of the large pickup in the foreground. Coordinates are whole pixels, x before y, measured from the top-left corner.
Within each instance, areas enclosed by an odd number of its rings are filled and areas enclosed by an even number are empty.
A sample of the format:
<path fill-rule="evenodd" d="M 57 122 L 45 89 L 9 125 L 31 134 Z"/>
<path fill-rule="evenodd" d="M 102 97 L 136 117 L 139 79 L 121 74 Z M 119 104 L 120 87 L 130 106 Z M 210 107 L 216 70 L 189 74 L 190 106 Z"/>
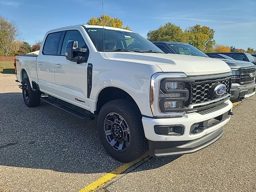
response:
<path fill-rule="evenodd" d="M 104 52 L 106 58 L 123 62 L 157 65 L 163 72 L 184 72 L 188 76 L 230 72 L 221 60 L 180 54 Z"/>

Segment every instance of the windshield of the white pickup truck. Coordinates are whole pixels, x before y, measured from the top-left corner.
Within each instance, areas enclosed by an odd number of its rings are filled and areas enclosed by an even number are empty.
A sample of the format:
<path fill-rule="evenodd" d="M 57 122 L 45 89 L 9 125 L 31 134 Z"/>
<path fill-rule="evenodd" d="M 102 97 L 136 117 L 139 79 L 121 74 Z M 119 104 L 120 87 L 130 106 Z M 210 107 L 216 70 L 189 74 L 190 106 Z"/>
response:
<path fill-rule="evenodd" d="M 98 51 L 130 51 L 130 52 L 159 52 L 163 53 L 152 42 L 134 32 L 85 28 Z"/>

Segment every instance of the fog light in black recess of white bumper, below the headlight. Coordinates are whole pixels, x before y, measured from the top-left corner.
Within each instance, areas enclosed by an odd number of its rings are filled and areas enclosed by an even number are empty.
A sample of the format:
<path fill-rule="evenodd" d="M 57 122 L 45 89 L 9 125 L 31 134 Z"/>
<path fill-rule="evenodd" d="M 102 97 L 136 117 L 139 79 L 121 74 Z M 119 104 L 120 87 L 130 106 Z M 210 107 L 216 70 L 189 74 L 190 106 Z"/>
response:
<path fill-rule="evenodd" d="M 155 125 L 154 131 L 159 135 L 182 135 L 184 132 L 184 127 L 182 125 L 171 125 L 171 126 L 162 126 Z"/>

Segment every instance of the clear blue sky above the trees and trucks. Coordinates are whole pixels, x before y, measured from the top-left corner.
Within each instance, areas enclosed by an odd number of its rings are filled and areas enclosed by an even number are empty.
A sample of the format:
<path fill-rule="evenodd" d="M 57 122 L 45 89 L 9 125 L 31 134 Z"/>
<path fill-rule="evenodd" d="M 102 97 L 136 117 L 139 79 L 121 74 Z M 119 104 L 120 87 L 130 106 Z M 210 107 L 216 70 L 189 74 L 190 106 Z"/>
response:
<path fill-rule="evenodd" d="M 0 0 L 0 15 L 14 21 L 20 40 L 30 44 L 48 30 L 86 24 L 101 14 L 102 0 Z M 200 24 L 215 30 L 217 44 L 256 50 L 256 0 L 104 0 L 104 14 L 145 37 L 166 22 L 183 30 Z"/>

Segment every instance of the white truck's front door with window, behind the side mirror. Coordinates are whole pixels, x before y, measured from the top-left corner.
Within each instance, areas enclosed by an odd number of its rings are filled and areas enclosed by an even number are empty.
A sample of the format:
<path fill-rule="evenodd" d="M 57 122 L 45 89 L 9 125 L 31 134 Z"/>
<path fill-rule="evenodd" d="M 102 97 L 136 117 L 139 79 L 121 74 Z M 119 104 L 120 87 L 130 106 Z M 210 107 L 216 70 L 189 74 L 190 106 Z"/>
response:
<path fill-rule="evenodd" d="M 79 48 L 87 48 L 86 62 L 77 64 L 66 59 L 66 46 L 70 41 L 78 41 Z M 64 31 L 60 56 L 55 60 L 56 91 L 62 100 L 88 109 L 87 102 L 87 67 L 89 49 L 80 28 Z"/>

